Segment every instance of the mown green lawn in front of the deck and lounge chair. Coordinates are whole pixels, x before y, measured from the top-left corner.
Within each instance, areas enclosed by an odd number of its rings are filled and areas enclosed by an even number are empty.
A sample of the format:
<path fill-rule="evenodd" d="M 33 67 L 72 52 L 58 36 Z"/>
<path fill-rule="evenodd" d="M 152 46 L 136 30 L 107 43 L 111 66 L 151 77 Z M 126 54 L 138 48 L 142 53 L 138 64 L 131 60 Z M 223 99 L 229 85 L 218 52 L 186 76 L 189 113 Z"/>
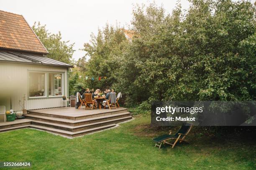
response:
<path fill-rule="evenodd" d="M 256 166 L 253 140 L 224 140 L 194 128 L 188 136 L 190 144 L 154 148 L 151 139 L 167 131 L 152 128 L 150 117 L 140 116 L 118 128 L 74 139 L 33 129 L 13 130 L 0 133 L 0 161 L 30 161 L 36 170 L 253 170 Z"/>

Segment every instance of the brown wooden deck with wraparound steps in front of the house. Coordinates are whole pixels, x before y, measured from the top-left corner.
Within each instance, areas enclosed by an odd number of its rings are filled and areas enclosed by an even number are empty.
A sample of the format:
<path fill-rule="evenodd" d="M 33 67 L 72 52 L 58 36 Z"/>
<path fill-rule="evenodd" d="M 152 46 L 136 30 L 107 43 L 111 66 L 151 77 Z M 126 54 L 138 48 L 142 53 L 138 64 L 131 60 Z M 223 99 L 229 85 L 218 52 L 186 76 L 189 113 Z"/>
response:
<path fill-rule="evenodd" d="M 131 120 L 126 108 L 84 110 L 74 107 L 28 110 L 26 119 L 0 122 L 0 132 L 18 128 L 36 128 L 68 137 L 76 137 L 113 128 L 117 123 Z"/>

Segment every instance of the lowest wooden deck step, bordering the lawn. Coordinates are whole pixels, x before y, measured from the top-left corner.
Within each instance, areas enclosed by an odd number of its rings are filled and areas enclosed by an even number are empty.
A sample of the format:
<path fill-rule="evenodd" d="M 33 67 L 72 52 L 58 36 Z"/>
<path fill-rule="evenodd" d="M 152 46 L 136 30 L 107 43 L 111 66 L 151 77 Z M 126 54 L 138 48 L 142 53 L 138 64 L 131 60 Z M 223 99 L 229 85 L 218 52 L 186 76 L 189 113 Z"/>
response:
<path fill-rule="evenodd" d="M 46 130 L 46 131 L 49 131 L 49 132 L 52 132 L 52 133 L 57 133 L 57 134 L 65 135 L 65 136 L 68 136 L 68 137 L 76 137 L 76 136 L 80 136 L 80 135 L 85 135 L 85 134 L 88 134 L 88 133 L 93 133 L 93 132 L 97 132 L 97 131 L 100 131 L 100 130 L 112 128 L 114 126 L 116 126 L 116 125 L 115 124 L 110 124 L 110 125 L 100 126 L 100 127 L 97 127 L 97 128 L 79 130 L 77 132 L 69 132 L 69 131 L 66 131 L 66 130 L 49 128 L 49 127 L 40 126 L 40 125 L 33 125 L 33 124 L 30 125 L 31 128 Z"/>

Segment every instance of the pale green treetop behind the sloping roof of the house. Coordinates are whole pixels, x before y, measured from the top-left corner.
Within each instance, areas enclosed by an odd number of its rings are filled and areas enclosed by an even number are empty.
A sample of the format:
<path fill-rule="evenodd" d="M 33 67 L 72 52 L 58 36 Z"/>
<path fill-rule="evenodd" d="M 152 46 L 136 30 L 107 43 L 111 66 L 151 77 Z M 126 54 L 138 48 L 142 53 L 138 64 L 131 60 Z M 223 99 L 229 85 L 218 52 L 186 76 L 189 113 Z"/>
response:
<path fill-rule="evenodd" d="M 52 34 L 46 30 L 46 25 L 41 25 L 40 22 L 35 22 L 32 29 L 48 50 L 47 57 L 72 64 L 72 56 L 75 51 L 74 43 L 68 44 L 69 41 L 62 41 L 61 32 Z"/>

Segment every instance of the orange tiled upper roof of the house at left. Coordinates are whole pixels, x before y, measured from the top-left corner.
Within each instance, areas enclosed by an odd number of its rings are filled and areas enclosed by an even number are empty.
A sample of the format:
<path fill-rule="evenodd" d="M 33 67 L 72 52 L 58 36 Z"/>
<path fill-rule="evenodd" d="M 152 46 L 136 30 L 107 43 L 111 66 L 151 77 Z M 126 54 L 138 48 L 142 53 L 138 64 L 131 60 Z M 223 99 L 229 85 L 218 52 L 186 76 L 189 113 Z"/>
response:
<path fill-rule="evenodd" d="M 2 10 L 0 10 L 0 48 L 48 53 L 22 15 Z"/>

